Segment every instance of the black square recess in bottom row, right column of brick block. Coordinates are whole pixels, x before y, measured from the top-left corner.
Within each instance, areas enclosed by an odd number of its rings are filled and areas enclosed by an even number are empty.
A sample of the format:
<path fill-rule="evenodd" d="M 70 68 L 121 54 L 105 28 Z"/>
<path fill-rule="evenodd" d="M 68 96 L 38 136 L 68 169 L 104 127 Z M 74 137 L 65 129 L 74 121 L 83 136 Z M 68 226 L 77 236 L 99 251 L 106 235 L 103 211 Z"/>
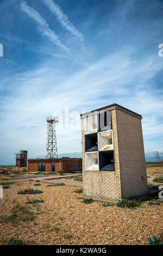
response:
<path fill-rule="evenodd" d="M 115 170 L 114 150 L 98 152 L 99 170 Z"/>

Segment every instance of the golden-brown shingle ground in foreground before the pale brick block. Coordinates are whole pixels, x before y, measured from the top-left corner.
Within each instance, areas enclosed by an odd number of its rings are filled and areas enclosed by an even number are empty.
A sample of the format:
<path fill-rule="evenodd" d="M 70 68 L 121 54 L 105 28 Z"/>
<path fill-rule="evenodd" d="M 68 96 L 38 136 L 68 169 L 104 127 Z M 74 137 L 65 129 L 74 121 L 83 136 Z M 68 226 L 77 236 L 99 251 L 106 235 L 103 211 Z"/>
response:
<path fill-rule="evenodd" d="M 75 187 L 34 184 L 18 182 L 4 190 L 4 199 L 0 200 L 1 216 L 10 216 L 16 205 L 27 206 L 29 199 L 45 202 L 28 204 L 34 212 L 33 221 L 20 221 L 14 227 L 10 222 L 0 223 L 0 243 L 14 237 L 37 245 L 147 245 L 149 237 L 159 236 L 163 230 L 163 204 L 148 206 L 148 202 L 143 202 L 142 207 L 135 210 L 116 205 L 103 207 L 99 202 L 83 204 L 79 194 L 73 192 Z M 43 193 L 17 194 L 26 188 Z"/>

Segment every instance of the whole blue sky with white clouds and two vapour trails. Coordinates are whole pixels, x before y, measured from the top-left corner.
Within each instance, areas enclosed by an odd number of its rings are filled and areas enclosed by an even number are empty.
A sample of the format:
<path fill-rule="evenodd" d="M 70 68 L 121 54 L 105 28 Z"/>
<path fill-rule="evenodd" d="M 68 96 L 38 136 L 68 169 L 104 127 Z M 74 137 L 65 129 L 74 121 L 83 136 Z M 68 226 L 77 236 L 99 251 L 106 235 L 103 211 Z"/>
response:
<path fill-rule="evenodd" d="M 142 115 L 145 150 L 163 152 L 163 2 L 1 0 L 0 164 L 45 155 L 46 117 L 118 103 Z M 66 120 L 64 120 L 66 123 Z M 59 153 L 80 130 L 57 127 Z"/>

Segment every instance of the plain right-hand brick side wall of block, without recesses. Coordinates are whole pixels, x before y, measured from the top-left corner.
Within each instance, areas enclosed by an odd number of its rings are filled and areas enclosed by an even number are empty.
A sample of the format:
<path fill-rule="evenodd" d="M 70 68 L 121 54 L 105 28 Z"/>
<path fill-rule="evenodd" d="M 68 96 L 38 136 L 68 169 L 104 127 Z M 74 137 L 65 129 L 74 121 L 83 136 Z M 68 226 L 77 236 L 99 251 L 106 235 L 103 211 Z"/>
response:
<path fill-rule="evenodd" d="M 116 111 L 122 198 L 147 192 L 141 119 Z"/>

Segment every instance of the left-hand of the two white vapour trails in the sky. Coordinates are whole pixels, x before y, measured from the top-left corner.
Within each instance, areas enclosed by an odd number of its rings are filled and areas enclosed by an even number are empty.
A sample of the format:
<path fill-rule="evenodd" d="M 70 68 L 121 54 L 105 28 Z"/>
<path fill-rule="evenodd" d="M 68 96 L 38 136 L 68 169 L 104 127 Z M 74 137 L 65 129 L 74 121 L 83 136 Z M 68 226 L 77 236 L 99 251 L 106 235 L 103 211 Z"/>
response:
<path fill-rule="evenodd" d="M 55 34 L 52 29 L 49 28 L 49 25 L 45 19 L 32 7 L 30 7 L 26 1 L 20 2 L 21 9 L 33 20 L 35 20 L 38 24 L 38 31 L 43 35 L 47 36 L 49 40 L 54 42 L 55 45 L 61 47 L 64 51 L 68 52 L 69 49 L 62 44 L 62 42 L 59 40 L 59 37 L 57 34 Z"/>

